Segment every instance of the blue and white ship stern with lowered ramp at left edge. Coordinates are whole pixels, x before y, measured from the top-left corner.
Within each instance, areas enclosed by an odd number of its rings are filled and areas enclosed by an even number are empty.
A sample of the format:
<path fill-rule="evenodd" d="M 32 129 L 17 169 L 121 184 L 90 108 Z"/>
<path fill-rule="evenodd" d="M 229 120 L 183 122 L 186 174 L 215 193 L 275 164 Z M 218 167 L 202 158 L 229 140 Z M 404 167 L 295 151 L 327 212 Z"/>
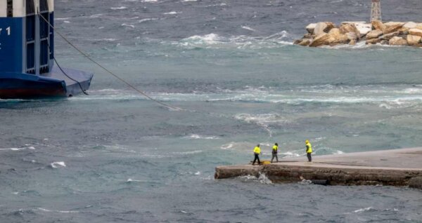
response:
<path fill-rule="evenodd" d="M 54 66 L 53 1 L 0 4 L 0 98 L 69 97 L 93 74 Z"/>

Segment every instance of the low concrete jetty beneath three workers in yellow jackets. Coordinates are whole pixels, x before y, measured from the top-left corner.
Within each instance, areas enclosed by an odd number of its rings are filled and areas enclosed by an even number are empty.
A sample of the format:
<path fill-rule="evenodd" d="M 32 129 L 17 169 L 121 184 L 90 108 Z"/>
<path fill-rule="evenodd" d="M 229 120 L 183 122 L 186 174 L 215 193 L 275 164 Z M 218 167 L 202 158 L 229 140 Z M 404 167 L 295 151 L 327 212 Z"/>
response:
<path fill-rule="evenodd" d="M 252 157 L 252 155 L 251 155 Z M 267 165 L 226 165 L 215 179 L 265 174 L 272 182 L 328 180 L 331 185 L 391 185 L 422 189 L 422 147 L 279 159 Z"/>

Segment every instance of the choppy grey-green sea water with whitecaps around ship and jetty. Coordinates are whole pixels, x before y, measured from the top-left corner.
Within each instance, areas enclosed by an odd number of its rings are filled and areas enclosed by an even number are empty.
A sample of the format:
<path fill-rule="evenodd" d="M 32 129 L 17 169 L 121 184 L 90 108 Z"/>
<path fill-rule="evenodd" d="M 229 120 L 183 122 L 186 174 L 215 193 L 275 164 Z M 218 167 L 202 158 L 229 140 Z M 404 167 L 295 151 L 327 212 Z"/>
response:
<path fill-rule="evenodd" d="M 383 20 L 422 22 L 420 0 Z M 422 222 L 405 187 L 214 180 L 217 165 L 420 147 L 422 49 L 303 48 L 310 22 L 369 20 L 370 1 L 56 1 L 56 36 L 89 95 L 0 100 L 0 222 Z"/>

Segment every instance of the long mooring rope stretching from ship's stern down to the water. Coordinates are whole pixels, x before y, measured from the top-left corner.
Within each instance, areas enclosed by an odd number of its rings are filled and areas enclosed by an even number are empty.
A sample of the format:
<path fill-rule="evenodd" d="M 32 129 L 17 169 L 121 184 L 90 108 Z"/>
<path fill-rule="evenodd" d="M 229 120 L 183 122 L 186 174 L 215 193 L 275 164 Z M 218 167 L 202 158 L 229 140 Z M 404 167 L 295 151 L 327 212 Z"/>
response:
<path fill-rule="evenodd" d="M 87 53 L 84 53 L 82 50 L 80 50 L 79 48 L 77 48 L 77 46 L 75 46 L 72 42 L 70 42 L 65 36 L 63 36 L 62 34 L 60 34 L 60 32 L 58 32 L 56 30 L 56 28 L 53 27 L 53 25 L 51 25 L 51 23 L 46 20 L 46 18 L 44 18 L 43 15 L 39 14 L 39 17 L 41 17 L 52 29 L 54 32 L 56 32 L 62 39 L 64 39 L 70 46 L 72 46 L 73 48 L 75 48 L 75 50 L 77 50 L 80 54 L 84 55 L 85 58 L 87 58 L 88 60 L 90 60 L 91 62 L 94 62 L 94 64 L 98 65 L 98 67 L 101 67 L 101 69 L 105 70 L 106 72 L 108 72 L 108 74 L 113 75 L 116 79 L 119 79 L 120 81 L 122 81 L 123 83 L 126 83 L 127 86 L 129 86 L 130 88 L 136 90 L 138 93 L 140 93 L 141 95 L 143 95 L 144 97 L 148 98 L 149 100 L 156 102 L 158 104 L 161 104 L 164 107 L 170 108 L 170 109 L 175 109 L 177 111 L 181 111 L 183 109 L 179 108 L 179 107 L 174 107 L 170 104 L 166 104 L 164 102 L 160 102 L 159 100 L 154 99 L 153 97 L 151 97 L 150 95 L 146 94 L 145 92 L 143 92 L 142 90 L 139 90 L 138 88 L 136 88 L 135 86 L 132 86 L 132 84 L 130 84 L 129 82 L 125 81 L 124 79 L 122 79 L 120 76 L 118 76 L 117 74 L 111 72 L 109 69 L 107 69 L 106 67 L 104 67 L 103 65 L 101 65 L 100 63 L 96 62 L 94 59 L 92 59 L 91 57 L 89 57 L 89 55 L 87 55 Z"/>

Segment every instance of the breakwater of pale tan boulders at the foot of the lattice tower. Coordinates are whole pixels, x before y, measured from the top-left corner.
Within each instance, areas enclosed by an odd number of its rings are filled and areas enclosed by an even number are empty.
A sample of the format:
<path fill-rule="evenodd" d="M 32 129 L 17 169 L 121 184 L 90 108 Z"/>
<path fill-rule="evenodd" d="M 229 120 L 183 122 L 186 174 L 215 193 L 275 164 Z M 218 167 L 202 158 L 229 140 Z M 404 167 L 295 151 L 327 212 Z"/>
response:
<path fill-rule="evenodd" d="M 422 23 L 416 22 L 318 22 L 307 25 L 307 34 L 294 43 L 300 46 L 354 45 L 380 43 L 391 46 L 422 47 Z"/>

